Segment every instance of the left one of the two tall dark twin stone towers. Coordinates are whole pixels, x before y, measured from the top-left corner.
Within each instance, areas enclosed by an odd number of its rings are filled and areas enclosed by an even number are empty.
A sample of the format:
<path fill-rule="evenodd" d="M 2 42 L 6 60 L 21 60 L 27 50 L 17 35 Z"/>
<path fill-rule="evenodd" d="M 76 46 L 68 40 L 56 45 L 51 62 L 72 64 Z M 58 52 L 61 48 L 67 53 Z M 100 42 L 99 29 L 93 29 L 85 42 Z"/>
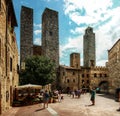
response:
<path fill-rule="evenodd" d="M 20 27 L 20 63 L 33 55 L 33 9 L 22 6 Z"/>

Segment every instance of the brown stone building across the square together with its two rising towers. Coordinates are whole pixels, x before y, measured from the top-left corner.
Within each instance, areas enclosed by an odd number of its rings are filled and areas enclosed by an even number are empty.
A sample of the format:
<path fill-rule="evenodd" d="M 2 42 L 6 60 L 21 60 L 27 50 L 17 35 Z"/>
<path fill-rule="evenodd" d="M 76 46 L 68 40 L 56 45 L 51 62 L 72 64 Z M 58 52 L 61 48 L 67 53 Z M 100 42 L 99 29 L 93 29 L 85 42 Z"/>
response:
<path fill-rule="evenodd" d="M 91 39 L 91 40 L 90 40 Z M 108 91 L 108 70 L 106 67 L 95 66 L 95 34 L 88 27 L 84 35 L 84 66 L 80 65 L 80 54 L 70 55 L 70 66 L 59 67 L 58 86 L 62 89 L 80 89 L 101 87 Z"/>

